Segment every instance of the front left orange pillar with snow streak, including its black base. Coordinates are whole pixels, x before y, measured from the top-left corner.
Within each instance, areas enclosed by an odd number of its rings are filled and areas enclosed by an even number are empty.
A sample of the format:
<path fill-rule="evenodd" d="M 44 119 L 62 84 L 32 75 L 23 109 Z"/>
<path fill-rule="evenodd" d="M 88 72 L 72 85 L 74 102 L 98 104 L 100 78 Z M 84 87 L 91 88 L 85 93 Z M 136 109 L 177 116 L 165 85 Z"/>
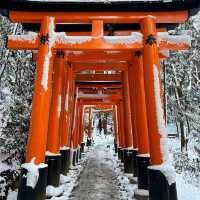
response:
<path fill-rule="evenodd" d="M 41 22 L 41 37 L 51 34 L 50 26 L 54 27 L 54 21 L 50 17 L 44 17 Z M 46 57 L 48 55 L 48 57 Z M 47 144 L 47 131 L 50 110 L 50 98 L 52 91 L 53 53 L 47 40 L 42 40 L 39 45 L 35 88 L 32 102 L 32 115 L 28 135 L 26 162 L 35 163 L 39 168 L 39 180 L 35 186 L 33 199 L 45 199 L 47 166 L 45 152 Z M 41 166 L 41 167 L 40 167 Z M 26 173 L 26 172 L 25 172 Z M 23 177 L 23 175 L 22 175 Z M 27 186 L 24 187 L 24 179 L 18 192 L 18 200 L 23 200 L 29 195 Z M 26 184 L 25 184 L 26 185 Z"/>

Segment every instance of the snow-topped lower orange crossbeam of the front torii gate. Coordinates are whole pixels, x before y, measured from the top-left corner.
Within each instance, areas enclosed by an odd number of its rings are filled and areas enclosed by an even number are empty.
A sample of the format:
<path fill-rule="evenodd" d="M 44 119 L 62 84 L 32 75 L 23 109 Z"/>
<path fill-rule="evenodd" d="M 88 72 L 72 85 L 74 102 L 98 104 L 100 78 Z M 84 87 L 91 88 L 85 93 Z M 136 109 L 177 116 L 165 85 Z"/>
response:
<path fill-rule="evenodd" d="M 40 45 L 39 35 L 8 36 L 8 48 L 10 49 L 38 49 Z M 158 33 L 158 46 L 164 50 L 185 50 L 191 46 L 188 35 L 169 35 Z M 143 36 L 139 32 L 130 36 L 66 36 L 65 33 L 55 33 L 54 49 L 60 50 L 139 50 L 143 48 Z"/>

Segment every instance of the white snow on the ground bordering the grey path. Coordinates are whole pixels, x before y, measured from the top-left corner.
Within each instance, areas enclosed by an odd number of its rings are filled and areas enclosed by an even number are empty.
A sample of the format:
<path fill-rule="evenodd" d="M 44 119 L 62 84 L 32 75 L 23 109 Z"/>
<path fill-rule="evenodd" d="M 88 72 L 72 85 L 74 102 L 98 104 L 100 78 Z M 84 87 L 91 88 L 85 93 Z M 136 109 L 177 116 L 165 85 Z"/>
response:
<path fill-rule="evenodd" d="M 97 133 L 96 128 L 94 129 L 94 132 Z M 78 184 L 81 181 L 79 178 L 81 177 L 81 174 L 84 173 L 83 170 L 86 167 L 87 159 L 91 156 L 93 156 L 94 158 L 96 156 L 96 154 L 94 153 L 100 151 L 100 153 L 98 154 L 98 159 L 102 159 L 102 162 L 104 162 L 114 172 L 115 179 L 117 180 L 116 184 L 120 193 L 119 199 L 133 200 L 134 191 L 137 189 L 137 185 L 130 183 L 130 178 L 132 177 L 132 174 L 125 174 L 123 172 L 123 164 L 121 163 L 121 161 L 118 160 L 117 154 L 115 154 L 114 152 L 113 137 L 111 135 L 105 136 L 103 134 L 93 134 L 93 141 L 94 146 L 90 147 L 90 150 L 86 152 L 82 161 L 80 161 L 77 166 L 73 167 L 67 176 L 61 175 L 60 186 L 58 188 L 54 188 L 52 186 L 47 187 L 47 195 L 52 196 L 48 199 L 72 200 L 74 195 L 73 193 L 76 192 Z M 176 148 L 176 146 L 174 145 L 171 145 L 171 147 Z M 176 176 L 176 183 L 179 200 L 200 199 L 200 190 L 192 184 L 186 183 L 183 179 L 183 175 L 178 174 Z M 99 188 L 99 190 L 100 189 L 101 187 Z M 88 191 L 88 193 L 89 192 L 91 191 Z M 16 195 L 16 192 L 10 192 L 8 200 L 16 200 Z M 102 191 L 102 195 L 104 195 L 104 191 Z"/>

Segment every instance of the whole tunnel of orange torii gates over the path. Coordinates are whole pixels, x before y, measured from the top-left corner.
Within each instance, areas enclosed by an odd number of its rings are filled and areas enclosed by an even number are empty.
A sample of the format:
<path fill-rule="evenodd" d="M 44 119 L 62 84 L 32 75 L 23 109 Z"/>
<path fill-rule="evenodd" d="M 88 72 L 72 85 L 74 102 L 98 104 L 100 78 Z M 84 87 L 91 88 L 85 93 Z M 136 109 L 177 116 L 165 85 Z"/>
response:
<path fill-rule="evenodd" d="M 163 172 L 173 176 L 165 154 L 160 60 L 167 59 L 170 50 L 190 47 L 187 35 L 166 32 L 170 24 L 188 19 L 189 6 L 153 12 L 60 12 L 52 6 L 49 12 L 33 12 L 28 8 L 18 6 L 19 10 L 8 12 L 12 22 L 24 27 L 40 25 L 38 32 L 10 35 L 7 41 L 10 49 L 32 50 L 37 63 L 18 200 L 45 199 L 46 185 L 58 186 L 60 173 L 68 173 L 70 159 L 73 165 L 81 159 L 86 111 L 88 139 L 92 138 L 91 108 L 112 110 L 115 150 L 124 171 L 138 177 L 138 188 L 149 190 L 150 200 L 176 200 L 176 183 Z M 68 26 L 68 31 L 58 32 L 59 24 Z M 89 24 L 91 30 L 70 31 L 74 24 Z M 123 24 L 123 30 L 105 30 L 105 24 Z M 136 28 L 126 29 L 131 24 Z M 32 165 L 39 177 L 30 187 L 27 177 Z"/>

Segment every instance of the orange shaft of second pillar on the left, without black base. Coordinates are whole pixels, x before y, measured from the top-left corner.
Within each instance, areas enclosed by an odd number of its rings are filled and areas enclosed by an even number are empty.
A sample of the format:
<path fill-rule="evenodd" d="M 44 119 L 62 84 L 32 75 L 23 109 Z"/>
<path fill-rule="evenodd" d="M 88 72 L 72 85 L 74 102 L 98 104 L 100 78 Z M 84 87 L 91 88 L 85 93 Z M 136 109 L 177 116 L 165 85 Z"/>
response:
<path fill-rule="evenodd" d="M 60 152 L 59 125 L 61 125 L 62 103 L 62 74 L 64 72 L 64 58 L 57 55 L 54 61 L 53 88 L 49 114 L 49 128 L 47 135 L 47 151 L 58 154 Z"/>

